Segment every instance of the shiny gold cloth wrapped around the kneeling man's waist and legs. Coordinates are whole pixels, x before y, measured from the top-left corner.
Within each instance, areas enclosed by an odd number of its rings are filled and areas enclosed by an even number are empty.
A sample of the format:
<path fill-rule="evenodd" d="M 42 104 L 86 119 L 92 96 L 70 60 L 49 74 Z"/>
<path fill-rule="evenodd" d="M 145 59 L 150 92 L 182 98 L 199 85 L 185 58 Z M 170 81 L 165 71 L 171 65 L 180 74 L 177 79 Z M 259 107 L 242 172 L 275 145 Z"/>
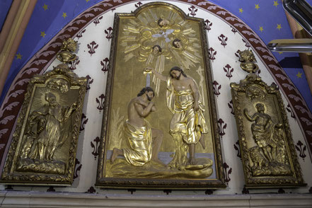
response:
<path fill-rule="evenodd" d="M 135 127 L 128 120 L 125 121 L 125 136 L 131 149 L 122 149 L 128 163 L 133 166 L 143 166 L 151 161 L 152 137 L 151 125 L 144 120 L 143 127 Z"/>

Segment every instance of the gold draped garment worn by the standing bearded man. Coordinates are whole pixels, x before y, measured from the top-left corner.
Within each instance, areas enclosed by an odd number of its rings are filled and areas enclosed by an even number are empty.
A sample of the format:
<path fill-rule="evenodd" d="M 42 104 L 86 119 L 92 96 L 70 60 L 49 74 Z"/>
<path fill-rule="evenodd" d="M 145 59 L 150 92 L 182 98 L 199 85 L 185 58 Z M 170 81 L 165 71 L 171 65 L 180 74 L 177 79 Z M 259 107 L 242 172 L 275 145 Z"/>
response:
<path fill-rule="evenodd" d="M 194 81 L 195 82 L 195 81 Z M 196 83 L 196 82 L 195 82 Z M 200 96 L 200 93 L 199 93 Z M 202 98 L 198 100 L 200 109 L 195 112 L 193 108 L 194 97 L 192 90 L 175 91 L 172 79 L 167 80 L 166 104 L 173 113 L 171 120 L 171 133 L 180 133 L 186 144 L 197 144 L 202 134 L 208 132 L 204 119 Z"/>

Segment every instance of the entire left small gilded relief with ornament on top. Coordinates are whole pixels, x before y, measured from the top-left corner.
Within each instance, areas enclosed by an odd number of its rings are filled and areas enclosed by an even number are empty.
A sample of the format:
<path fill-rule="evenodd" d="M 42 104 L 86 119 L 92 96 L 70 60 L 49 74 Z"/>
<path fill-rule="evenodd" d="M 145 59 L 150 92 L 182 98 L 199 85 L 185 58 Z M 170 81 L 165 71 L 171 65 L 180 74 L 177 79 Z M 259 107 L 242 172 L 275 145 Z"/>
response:
<path fill-rule="evenodd" d="M 30 79 L 1 183 L 71 185 L 81 125 L 86 78 L 69 69 L 76 60 L 76 42 L 62 43 L 63 62 L 47 74 Z"/>

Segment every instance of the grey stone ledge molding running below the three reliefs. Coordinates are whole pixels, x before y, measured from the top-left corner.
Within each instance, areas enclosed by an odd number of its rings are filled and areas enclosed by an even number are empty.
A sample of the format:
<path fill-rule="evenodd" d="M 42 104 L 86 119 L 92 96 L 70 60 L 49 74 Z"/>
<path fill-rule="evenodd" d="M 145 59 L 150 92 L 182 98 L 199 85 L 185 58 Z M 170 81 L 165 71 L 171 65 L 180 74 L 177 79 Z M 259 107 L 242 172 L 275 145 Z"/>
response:
<path fill-rule="evenodd" d="M 311 194 L 103 195 L 0 192 L 0 207 L 311 207 Z"/>

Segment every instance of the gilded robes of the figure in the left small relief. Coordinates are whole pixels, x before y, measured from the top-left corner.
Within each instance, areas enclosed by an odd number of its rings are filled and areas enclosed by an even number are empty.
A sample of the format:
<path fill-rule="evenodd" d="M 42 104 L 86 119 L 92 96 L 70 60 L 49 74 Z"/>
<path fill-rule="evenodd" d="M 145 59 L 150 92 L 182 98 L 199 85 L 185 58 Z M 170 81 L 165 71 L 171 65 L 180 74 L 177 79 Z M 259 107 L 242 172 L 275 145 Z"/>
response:
<path fill-rule="evenodd" d="M 71 112 L 74 108 L 44 105 L 30 115 L 28 139 L 25 141 L 21 157 L 52 160 L 57 146 L 62 146 L 71 137 Z M 39 132 L 39 133 L 38 133 Z"/>

